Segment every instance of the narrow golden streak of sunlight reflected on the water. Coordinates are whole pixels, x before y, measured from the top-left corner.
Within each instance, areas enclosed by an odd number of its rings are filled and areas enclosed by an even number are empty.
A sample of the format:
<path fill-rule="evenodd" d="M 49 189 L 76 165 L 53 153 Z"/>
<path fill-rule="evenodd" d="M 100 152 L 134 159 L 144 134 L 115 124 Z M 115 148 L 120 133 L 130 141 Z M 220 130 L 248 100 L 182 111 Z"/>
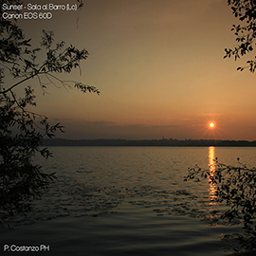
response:
<path fill-rule="evenodd" d="M 215 160 L 215 147 L 209 147 L 209 153 L 208 153 L 208 158 L 209 158 L 209 171 L 210 175 L 213 176 L 216 171 L 216 162 Z M 209 179 L 210 181 L 210 179 Z M 210 205 L 215 205 L 216 203 L 214 202 L 214 199 L 216 198 L 215 192 L 217 191 L 216 184 L 211 184 L 210 189 L 209 189 L 209 195 L 210 195 Z"/>

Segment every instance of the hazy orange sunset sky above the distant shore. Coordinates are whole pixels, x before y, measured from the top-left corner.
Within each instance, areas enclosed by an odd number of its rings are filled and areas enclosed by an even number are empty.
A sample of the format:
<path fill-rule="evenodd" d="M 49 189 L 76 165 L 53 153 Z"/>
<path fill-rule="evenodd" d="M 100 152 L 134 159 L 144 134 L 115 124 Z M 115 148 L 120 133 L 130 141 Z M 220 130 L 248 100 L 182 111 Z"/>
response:
<path fill-rule="evenodd" d="M 255 75 L 236 70 L 247 56 L 223 59 L 224 49 L 236 46 L 230 29 L 239 24 L 227 2 L 84 0 L 76 11 L 49 10 L 49 20 L 19 20 L 33 46 L 46 29 L 66 46 L 86 48 L 82 74 L 77 69 L 58 78 L 101 91 L 82 94 L 52 84 L 43 95 L 29 81 L 36 112 L 64 125 L 57 137 L 255 140 Z"/>

